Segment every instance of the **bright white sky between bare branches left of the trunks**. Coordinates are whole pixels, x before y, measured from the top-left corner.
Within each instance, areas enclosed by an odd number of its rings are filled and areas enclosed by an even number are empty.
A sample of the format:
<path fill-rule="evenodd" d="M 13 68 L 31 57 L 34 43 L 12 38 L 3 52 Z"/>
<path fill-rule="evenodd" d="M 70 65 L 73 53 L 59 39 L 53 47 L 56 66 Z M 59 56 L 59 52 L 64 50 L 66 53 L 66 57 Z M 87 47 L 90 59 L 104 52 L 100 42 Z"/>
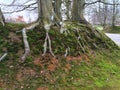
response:
<path fill-rule="evenodd" d="M 7 5 L 9 5 L 9 4 L 11 4 L 12 1 L 13 0 L 0 0 L 0 4 L 7 4 Z M 25 1 L 26 0 L 19 0 L 19 2 L 17 2 L 17 3 L 20 4 L 20 3 L 23 3 Z M 10 12 L 14 8 L 14 7 L 6 8 L 6 7 L 3 7 L 3 6 L 0 6 L 0 7 L 1 7 L 3 13 L 6 12 L 6 11 Z M 37 13 L 35 13 L 34 11 L 21 11 L 21 12 L 12 13 L 12 14 L 4 14 L 4 16 L 7 19 L 8 18 L 12 18 L 12 17 L 17 18 L 18 16 L 23 16 L 23 18 L 24 18 L 26 23 L 28 23 L 30 20 L 32 22 L 32 21 L 35 21 L 37 19 Z"/>

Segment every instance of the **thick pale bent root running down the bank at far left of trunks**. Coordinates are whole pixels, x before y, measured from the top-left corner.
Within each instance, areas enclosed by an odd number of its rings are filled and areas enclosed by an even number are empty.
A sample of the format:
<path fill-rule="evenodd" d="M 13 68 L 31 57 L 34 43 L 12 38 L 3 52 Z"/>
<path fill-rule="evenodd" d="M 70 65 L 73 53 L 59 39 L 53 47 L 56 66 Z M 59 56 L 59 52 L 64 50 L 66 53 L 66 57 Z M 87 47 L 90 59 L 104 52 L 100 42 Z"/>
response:
<path fill-rule="evenodd" d="M 26 57 L 30 53 L 30 47 L 29 47 L 29 43 L 27 41 L 27 34 L 26 34 L 26 29 L 25 28 L 22 30 L 22 35 L 23 35 L 23 42 L 24 42 L 24 47 L 25 47 L 25 53 L 21 57 L 21 60 L 25 61 Z"/>

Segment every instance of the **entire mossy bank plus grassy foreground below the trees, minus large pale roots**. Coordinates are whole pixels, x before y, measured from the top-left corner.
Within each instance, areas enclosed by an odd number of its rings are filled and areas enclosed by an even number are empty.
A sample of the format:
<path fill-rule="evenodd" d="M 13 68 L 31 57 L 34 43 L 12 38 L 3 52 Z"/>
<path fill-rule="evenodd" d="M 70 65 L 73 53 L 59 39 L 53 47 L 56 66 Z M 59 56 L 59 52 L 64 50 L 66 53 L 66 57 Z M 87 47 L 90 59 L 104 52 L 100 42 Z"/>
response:
<path fill-rule="evenodd" d="M 0 55 L 8 53 L 0 62 L 0 90 L 94 90 L 106 86 L 109 89 L 116 85 L 113 81 L 119 82 L 118 46 L 101 32 L 77 23 L 68 23 L 67 33 L 51 27 L 49 36 L 57 58 L 52 57 L 49 50 L 42 56 L 45 30 L 39 26 L 29 30 L 31 52 L 25 62 L 20 63 L 24 44 L 21 32 L 16 31 L 25 26 L 10 23 L 0 26 Z"/>

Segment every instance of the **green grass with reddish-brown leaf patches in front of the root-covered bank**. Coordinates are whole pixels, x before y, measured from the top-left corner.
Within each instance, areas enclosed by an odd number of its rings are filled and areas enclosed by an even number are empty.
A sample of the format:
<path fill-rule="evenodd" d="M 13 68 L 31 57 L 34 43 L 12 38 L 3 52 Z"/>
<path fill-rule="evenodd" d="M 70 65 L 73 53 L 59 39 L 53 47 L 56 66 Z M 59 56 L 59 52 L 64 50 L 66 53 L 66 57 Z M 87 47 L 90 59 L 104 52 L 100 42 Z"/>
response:
<path fill-rule="evenodd" d="M 24 64 L 5 59 L 0 63 L 1 90 L 114 90 L 120 89 L 120 53 L 114 51 L 95 52 L 89 54 L 89 60 L 68 60 L 59 58 L 58 63 L 53 58 L 44 61 L 44 65 L 35 64 L 28 58 Z M 15 87 L 13 87 L 15 86 Z M 46 89 L 46 90 L 47 90 Z"/>

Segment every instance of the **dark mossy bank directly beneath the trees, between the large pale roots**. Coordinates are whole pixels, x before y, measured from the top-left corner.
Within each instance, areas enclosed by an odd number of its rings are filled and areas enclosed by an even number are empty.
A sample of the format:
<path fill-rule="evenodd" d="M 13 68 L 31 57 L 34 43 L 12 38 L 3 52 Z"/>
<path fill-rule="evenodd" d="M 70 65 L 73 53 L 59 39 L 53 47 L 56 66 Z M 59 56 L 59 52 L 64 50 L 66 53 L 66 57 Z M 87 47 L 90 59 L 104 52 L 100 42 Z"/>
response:
<path fill-rule="evenodd" d="M 23 24 L 8 23 L 5 27 L 0 27 L 0 53 L 8 52 L 8 55 L 13 53 L 19 57 L 24 53 L 22 32 L 16 33 L 16 31 L 25 26 Z M 52 51 L 56 56 L 65 55 L 66 50 L 69 56 L 79 56 L 82 53 L 90 53 L 94 50 L 119 48 L 105 34 L 89 26 L 67 22 L 64 28 L 66 30 L 63 33 L 60 33 L 60 30 L 55 27 L 51 27 L 51 30 L 49 30 Z M 27 35 L 31 55 L 42 55 L 46 37 L 45 30 L 37 26 L 34 30 L 29 30 Z M 47 50 L 47 53 L 49 53 L 49 50 Z"/>

